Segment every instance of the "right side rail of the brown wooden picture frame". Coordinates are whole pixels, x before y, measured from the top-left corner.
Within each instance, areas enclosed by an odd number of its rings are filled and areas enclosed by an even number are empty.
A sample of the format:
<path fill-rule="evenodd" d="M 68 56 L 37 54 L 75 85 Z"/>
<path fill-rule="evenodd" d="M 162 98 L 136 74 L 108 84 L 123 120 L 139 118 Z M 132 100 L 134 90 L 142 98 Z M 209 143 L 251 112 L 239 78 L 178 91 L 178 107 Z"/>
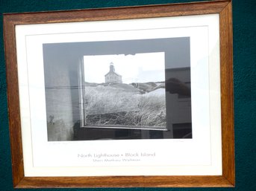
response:
<path fill-rule="evenodd" d="M 234 185 L 233 33 L 231 3 L 219 13 L 222 110 L 222 174 Z"/>

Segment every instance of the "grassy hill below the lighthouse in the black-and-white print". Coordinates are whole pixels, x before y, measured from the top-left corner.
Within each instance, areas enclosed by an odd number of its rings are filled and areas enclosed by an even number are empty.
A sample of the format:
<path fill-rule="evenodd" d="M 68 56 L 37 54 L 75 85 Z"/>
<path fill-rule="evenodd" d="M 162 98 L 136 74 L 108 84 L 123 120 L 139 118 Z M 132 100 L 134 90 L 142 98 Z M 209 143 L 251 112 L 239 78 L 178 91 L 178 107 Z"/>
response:
<path fill-rule="evenodd" d="M 166 126 L 165 89 L 161 82 L 86 82 L 84 107 L 89 125 Z"/>

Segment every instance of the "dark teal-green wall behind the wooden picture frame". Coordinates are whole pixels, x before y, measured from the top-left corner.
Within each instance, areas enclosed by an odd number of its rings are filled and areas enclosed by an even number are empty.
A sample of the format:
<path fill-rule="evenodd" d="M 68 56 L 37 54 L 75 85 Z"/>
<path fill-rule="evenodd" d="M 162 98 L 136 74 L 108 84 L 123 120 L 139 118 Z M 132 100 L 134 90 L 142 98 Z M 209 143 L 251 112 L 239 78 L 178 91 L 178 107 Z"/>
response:
<path fill-rule="evenodd" d="M 0 190 L 13 190 L 7 117 L 2 13 L 167 4 L 191 0 L 0 0 Z M 96 190 L 256 190 L 256 1 L 233 1 L 235 188 L 129 188 Z M 49 189 L 60 190 L 60 189 Z M 63 189 L 92 190 L 92 189 Z"/>

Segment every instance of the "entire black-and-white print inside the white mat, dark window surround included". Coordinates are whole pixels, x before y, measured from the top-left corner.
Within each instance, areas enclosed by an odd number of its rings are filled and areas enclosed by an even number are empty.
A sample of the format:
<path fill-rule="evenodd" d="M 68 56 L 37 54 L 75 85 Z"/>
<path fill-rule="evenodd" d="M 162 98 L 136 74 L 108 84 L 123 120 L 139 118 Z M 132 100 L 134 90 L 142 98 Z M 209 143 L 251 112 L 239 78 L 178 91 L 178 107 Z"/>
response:
<path fill-rule="evenodd" d="M 190 37 L 43 44 L 49 141 L 192 138 Z"/>

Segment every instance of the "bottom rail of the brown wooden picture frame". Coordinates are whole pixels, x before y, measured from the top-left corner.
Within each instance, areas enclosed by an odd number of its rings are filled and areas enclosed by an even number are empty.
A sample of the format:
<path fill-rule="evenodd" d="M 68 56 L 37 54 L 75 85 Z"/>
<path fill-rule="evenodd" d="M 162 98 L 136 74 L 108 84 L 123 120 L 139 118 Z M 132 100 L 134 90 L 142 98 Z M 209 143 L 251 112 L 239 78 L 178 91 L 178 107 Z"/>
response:
<path fill-rule="evenodd" d="M 17 188 L 51 187 L 230 187 L 222 176 L 107 176 L 24 178 Z"/>

